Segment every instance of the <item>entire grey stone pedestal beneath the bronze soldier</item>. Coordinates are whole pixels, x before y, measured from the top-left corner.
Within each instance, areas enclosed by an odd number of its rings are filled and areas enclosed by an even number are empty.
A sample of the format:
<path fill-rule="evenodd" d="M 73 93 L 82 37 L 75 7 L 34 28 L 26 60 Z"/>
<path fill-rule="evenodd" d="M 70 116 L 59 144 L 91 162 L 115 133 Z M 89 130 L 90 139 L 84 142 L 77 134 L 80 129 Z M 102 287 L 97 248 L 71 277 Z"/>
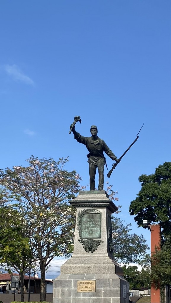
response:
<path fill-rule="evenodd" d="M 80 191 L 74 253 L 53 281 L 53 303 L 129 303 L 129 284 L 112 256 L 111 214 L 105 191 Z"/>

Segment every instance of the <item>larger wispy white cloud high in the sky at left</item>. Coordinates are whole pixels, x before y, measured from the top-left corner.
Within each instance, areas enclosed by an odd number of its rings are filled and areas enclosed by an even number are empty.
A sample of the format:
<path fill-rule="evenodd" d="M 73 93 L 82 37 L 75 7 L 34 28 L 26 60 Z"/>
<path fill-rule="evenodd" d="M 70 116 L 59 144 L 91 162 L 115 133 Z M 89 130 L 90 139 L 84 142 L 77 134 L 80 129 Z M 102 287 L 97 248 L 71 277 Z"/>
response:
<path fill-rule="evenodd" d="M 5 65 L 5 72 L 11 76 L 15 81 L 21 81 L 28 85 L 34 85 L 34 82 L 31 78 L 24 75 L 24 73 L 19 69 L 19 67 L 15 64 L 13 65 Z"/>

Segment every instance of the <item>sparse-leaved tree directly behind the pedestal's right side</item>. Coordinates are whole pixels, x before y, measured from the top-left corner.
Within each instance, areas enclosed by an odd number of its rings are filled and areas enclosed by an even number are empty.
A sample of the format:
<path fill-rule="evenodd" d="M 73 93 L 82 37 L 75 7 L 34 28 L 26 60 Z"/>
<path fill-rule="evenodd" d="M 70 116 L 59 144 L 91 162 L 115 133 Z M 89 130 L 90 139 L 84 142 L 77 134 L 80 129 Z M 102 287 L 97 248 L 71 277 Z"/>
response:
<path fill-rule="evenodd" d="M 113 256 L 116 261 L 140 263 L 149 249 L 143 235 L 131 234 L 131 223 L 112 217 Z"/>

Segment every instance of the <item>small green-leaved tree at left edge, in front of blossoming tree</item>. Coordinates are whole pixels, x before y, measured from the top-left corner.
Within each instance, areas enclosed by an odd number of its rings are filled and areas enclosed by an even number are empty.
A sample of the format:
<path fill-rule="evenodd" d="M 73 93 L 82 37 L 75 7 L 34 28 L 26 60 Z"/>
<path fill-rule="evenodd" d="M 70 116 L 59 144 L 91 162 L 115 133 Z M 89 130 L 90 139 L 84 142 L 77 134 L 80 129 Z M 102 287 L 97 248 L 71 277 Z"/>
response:
<path fill-rule="evenodd" d="M 19 212 L 9 206 L 0 208 L 0 262 L 19 273 L 21 301 L 24 302 L 24 275 L 33 258 Z"/>

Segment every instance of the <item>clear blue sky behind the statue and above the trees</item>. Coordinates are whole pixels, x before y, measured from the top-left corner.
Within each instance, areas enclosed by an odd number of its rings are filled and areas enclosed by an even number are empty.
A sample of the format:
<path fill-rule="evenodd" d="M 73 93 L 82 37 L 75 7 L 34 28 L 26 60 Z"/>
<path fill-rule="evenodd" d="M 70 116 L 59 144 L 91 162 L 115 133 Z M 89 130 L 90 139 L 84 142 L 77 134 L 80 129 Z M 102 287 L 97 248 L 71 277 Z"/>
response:
<path fill-rule="evenodd" d="M 119 216 L 148 243 L 128 207 L 139 175 L 170 161 L 170 13 L 169 0 L 6 0 L 0 11 L 0 167 L 69 156 L 66 168 L 87 185 L 86 147 L 68 134 L 74 116 L 81 135 L 97 125 L 118 158 L 144 122 L 105 182 L 118 191 Z"/>

